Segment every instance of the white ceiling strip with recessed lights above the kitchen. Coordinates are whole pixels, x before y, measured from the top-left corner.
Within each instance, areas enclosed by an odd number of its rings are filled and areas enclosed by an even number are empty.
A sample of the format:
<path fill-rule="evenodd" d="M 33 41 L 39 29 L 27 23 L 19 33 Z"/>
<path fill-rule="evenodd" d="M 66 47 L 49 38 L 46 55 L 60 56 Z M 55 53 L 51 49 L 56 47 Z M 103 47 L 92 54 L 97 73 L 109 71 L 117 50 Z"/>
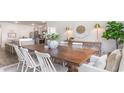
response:
<path fill-rule="evenodd" d="M 36 26 L 46 24 L 46 21 L 4 21 L 4 22 L 23 24 L 23 25 L 36 25 Z"/>

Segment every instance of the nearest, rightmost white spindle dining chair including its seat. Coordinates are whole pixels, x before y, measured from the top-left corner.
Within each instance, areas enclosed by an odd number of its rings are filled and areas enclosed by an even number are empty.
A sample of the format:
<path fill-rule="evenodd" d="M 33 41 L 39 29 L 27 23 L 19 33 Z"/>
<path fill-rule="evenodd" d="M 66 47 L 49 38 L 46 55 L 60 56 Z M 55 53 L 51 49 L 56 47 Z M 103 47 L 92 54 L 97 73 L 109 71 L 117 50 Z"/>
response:
<path fill-rule="evenodd" d="M 60 64 L 53 64 L 51 56 L 48 53 L 40 53 L 35 51 L 35 54 L 41 64 L 42 72 L 66 72 L 68 70 L 67 67 L 63 67 Z"/>

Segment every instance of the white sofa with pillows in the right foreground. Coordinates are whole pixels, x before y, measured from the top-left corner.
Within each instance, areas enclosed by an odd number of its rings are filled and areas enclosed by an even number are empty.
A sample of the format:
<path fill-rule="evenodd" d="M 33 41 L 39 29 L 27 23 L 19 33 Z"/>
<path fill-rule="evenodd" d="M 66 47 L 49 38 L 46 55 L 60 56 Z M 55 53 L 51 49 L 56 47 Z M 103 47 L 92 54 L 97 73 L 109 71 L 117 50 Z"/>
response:
<path fill-rule="evenodd" d="M 112 57 L 112 55 L 115 55 Z M 98 61 L 99 59 L 101 61 Z M 94 61 L 94 62 L 93 62 Z M 81 64 L 79 72 L 123 72 L 124 71 L 124 47 L 122 50 L 114 50 L 109 56 L 92 56 L 90 62 Z"/>

